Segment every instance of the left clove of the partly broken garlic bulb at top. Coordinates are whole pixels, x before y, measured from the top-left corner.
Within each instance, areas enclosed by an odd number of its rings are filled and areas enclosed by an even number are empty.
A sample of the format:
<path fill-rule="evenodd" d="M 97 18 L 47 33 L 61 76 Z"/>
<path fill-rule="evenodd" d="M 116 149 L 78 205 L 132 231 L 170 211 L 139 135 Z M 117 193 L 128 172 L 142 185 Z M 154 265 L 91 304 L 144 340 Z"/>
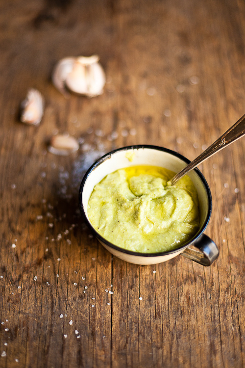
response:
<path fill-rule="evenodd" d="M 52 74 L 53 85 L 66 98 L 69 97 L 70 94 L 67 92 L 65 88 L 65 81 L 69 73 L 71 73 L 73 70 L 74 62 L 75 62 L 74 57 L 65 57 L 64 59 L 61 59 L 55 65 Z"/>

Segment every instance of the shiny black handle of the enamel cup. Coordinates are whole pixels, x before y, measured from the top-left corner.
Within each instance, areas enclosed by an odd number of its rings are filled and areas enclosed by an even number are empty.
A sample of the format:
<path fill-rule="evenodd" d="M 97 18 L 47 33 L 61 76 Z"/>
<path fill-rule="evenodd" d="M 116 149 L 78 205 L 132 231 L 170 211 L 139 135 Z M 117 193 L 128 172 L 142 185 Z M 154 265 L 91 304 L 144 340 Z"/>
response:
<path fill-rule="evenodd" d="M 194 245 L 200 252 L 195 249 L 186 248 L 181 255 L 203 266 L 210 266 L 219 257 L 220 252 L 217 245 L 205 234 L 202 234 L 195 241 Z"/>

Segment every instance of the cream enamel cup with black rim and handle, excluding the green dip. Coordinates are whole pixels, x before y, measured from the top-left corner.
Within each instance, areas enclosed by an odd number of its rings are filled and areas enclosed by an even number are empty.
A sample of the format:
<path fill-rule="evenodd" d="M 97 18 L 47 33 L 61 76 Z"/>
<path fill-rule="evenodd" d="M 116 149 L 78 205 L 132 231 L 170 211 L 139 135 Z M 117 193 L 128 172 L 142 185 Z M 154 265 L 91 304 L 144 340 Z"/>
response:
<path fill-rule="evenodd" d="M 132 161 L 126 156 L 132 154 Z M 128 156 L 129 157 L 129 156 Z M 209 266 L 219 256 L 219 250 L 216 244 L 205 234 L 203 234 L 212 210 L 212 197 L 209 186 L 198 169 L 192 170 L 188 175 L 196 187 L 199 210 L 200 210 L 200 228 L 196 235 L 187 243 L 181 245 L 179 248 L 169 252 L 159 253 L 138 253 L 128 251 L 112 244 L 101 235 L 97 233 L 88 217 L 88 201 L 94 186 L 98 184 L 107 174 L 116 170 L 135 166 L 135 165 L 152 165 L 161 166 L 166 169 L 178 172 L 183 169 L 190 161 L 179 155 L 176 152 L 157 146 L 129 146 L 112 151 L 103 157 L 99 158 L 87 171 L 79 189 L 79 207 L 81 213 L 85 216 L 87 224 L 100 243 L 114 256 L 136 264 L 155 264 L 170 260 L 179 254 L 189 258 L 195 262 Z M 199 249 L 188 248 L 190 245 L 195 245 Z"/>

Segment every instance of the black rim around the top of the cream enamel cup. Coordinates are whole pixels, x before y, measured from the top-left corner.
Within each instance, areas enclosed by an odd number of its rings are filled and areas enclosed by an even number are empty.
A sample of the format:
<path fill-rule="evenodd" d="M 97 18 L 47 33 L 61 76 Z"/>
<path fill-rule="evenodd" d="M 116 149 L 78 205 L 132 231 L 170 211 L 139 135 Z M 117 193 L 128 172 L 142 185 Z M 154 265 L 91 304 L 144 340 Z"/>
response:
<path fill-rule="evenodd" d="M 88 217 L 87 217 L 87 215 L 86 215 L 86 213 L 84 211 L 83 202 L 82 202 L 82 192 L 83 192 L 84 185 L 86 184 L 86 180 L 87 180 L 88 176 L 90 175 L 90 173 L 93 170 L 95 170 L 102 162 L 104 162 L 107 159 L 111 158 L 111 156 L 113 154 L 115 154 L 116 152 L 119 152 L 119 151 L 128 151 L 128 150 L 135 150 L 135 149 L 142 149 L 142 148 L 143 149 L 144 148 L 147 148 L 147 149 L 152 149 L 152 150 L 157 150 L 157 151 L 162 151 L 162 152 L 169 153 L 169 154 L 171 154 L 171 155 L 173 155 L 173 156 L 175 156 L 177 158 L 180 158 L 182 161 L 186 162 L 187 164 L 191 162 L 188 158 L 180 155 L 179 153 L 177 153 L 175 151 L 169 150 L 168 148 L 158 147 L 158 146 L 153 146 L 153 145 L 146 145 L 146 144 L 135 145 L 135 146 L 127 146 L 127 147 L 122 147 L 122 148 L 118 148 L 116 150 L 110 151 L 107 154 L 105 154 L 104 156 L 102 156 L 101 158 L 98 158 L 98 160 L 93 163 L 93 165 L 88 169 L 88 171 L 84 175 L 84 177 L 82 179 L 82 182 L 81 182 L 81 185 L 80 185 L 80 188 L 79 188 L 79 197 L 78 197 L 78 199 L 79 199 L 79 209 L 80 209 L 81 213 L 84 215 L 85 220 L 86 220 L 86 223 L 87 223 L 88 227 L 90 228 L 90 230 L 94 233 L 94 235 L 98 238 L 98 240 L 102 241 L 102 243 L 106 244 L 110 248 L 113 248 L 113 249 L 115 249 L 115 250 L 117 250 L 119 252 L 123 252 L 123 253 L 129 254 L 129 255 L 132 255 L 132 256 L 138 256 L 138 257 L 160 257 L 160 256 L 165 256 L 165 255 L 168 255 L 168 254 L 179 252 L 182 249 L 187 248 L 189 245 L 195 243 L 195 241 L 202 235 L 202 233 L 204 232 L 204 230 L 207 227 L 207 224 L 208 224 L 209 219 L 210 219 L 210 216 L 211 216 L 211 211 L 212 211 L 212 196 L 211 196 L 211 191 L 210 191 L 210 188 L 209 188 L 209 186 L 207 184 L 206 179 L 204 178 L 204 176 L 202 175 L 202 173 L 197 168 L 194 169 L 194 170 L 197 173 L 197 175 L 199 176 L 199 178 L 201 179 L 202 183 L 204 184 L 205 189 L 206 189 L 206 192 L 207 192 L 207 196 L 208 196 L 208 212 L 207 212 L 206 219 L 205 219 L 202 227 L 198 230 L 198 232 L 196 233 L 196 235 L 191 240 L 189 240 L 187 243 L 182 244 L 180 247 L 174 248 L 174 249 L 172 249 L 170 251 L 167 251 L 167 252 L 155 252 L 155 253 L 134 252 L 134 251 L 130 251 L 130 250 L 127 250 L 127 249 L 123 249 L 123 248 L 121 248 L 121 247 L 119 247 L 119 246 L 111 243 L 110 241 L 108 241 L 104 237 L 102 237 L 95 230 L 95 228 L 91 225 L 91 223 L 88 220 Z"/>

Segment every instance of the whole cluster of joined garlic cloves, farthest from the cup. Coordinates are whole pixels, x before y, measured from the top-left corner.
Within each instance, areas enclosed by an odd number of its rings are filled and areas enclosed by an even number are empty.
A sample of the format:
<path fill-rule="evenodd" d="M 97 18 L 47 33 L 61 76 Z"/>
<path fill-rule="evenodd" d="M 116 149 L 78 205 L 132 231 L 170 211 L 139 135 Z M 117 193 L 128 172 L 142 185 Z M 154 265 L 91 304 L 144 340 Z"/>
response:
<path fill-rule="evenodd" d="M 65 97 L 65 87 L 87 97 L 101 95 L 105 85 L 105 73 L 98 60 L 97 55 L 60 60 L 54 68 L 53 84 Z"/>

